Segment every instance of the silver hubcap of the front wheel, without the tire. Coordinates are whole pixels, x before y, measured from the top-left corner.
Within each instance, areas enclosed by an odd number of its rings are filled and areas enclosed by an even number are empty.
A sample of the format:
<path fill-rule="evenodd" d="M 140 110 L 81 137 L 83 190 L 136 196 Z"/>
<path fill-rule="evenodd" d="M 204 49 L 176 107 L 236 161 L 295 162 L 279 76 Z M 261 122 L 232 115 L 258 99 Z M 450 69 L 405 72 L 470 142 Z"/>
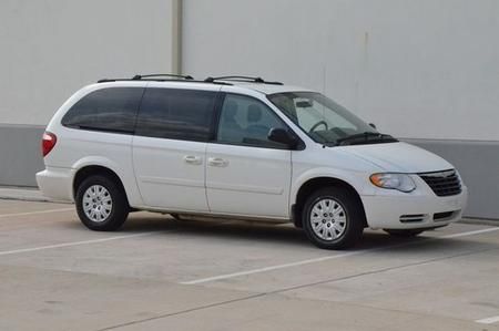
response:
<path fill-rule="evenodd" d="M 334 240 L 345 232 L 345 209 L 332 198 L 318 200 L 312 207 L 310 224 L 317 237 L 324 240 Z"/>

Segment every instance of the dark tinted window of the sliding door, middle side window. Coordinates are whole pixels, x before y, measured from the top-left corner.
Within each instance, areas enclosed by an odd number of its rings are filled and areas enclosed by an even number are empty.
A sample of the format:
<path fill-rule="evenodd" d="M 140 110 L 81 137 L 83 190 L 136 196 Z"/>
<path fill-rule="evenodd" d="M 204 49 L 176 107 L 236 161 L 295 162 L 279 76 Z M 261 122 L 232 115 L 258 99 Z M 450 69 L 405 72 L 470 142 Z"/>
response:
<path fill-rule="evenodd" d="M 146 89 L 135 134 L 205 142 L 211 135 L 215 96 L 211 91 Z"/>

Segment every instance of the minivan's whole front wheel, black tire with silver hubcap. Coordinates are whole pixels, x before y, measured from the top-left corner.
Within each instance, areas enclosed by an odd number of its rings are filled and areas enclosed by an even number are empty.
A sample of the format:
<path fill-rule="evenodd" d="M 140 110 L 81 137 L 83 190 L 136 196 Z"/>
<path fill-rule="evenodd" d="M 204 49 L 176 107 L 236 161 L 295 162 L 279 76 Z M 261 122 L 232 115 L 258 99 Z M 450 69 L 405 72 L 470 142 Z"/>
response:
<path fill-rule="evenodd" d="M 328 213 L 319 215 L 318 211 Z M 355 246 L 363 235 L 365 218 L 355 193 L 342 187 L 326 187 L 313 193 L 305 201 L 302 215 L 308 239 L 324 249 Z"/>

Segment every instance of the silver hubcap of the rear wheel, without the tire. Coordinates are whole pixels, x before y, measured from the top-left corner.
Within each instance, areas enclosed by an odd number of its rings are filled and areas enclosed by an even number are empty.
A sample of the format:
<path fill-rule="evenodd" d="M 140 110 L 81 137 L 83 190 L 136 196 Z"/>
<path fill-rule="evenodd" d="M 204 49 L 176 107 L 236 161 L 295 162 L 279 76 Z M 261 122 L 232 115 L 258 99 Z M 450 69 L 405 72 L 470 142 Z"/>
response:
<path fill-rule="evenodd" d="M 105 221 L 113 209 L 113 199 L 102 185 L 90 186 L 83 195 L 83 211 L 92 221 Z"/>

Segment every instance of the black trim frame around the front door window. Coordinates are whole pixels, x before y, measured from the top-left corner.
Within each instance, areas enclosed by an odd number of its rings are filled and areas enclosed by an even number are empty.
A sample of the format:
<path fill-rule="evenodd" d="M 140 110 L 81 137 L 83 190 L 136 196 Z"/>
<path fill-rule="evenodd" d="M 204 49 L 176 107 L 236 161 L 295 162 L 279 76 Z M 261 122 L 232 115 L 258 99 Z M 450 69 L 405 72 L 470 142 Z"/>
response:
<path fill-rule="evenodd" d="M 289 127 L 289 125 L 288 125 L 285 121 L 283 121 L 283 118 L 281 118 L 281 116 L 278 116 L 278 115 L 276 114 L 276 112 L 275 112 L 272 107 L 268 106 L 268 104 L 266 104 L 266 103 L 263 102 L 262 100 L 259 100 L 259 99 L 257 99 L 257 97 L 254 97 L 254 96 L 252 96 L 252 95 L 244 94 L 244 93 L 224 92 L 224 91 L 220 91 L 218 93 L 220 93 L 220 95 L 217 96 L 217 99 L 216 99 L 216 101 L 215 101 L 215 105 L 216 105 L 216 107 L 215 107 L 215 115 L 213 116 L 213 118 L 214 118 L 214 126 L 215 126 L 215 127 L 214 127 L 214 130 L 213 130 L 213 135 L 212 135 L 211 139 L 208 141 L 208 143 L 212 143 L 212 144 L 218 144 L 218 145 L 242 146 L 242 147 L 253 147 L 253 148 L 267 148 L 267 149 L 279 149 L 279 151 L 303 151 L 303 149 L 305 149 L 306 145 L 305 145 L 305 143 L 302 141 L 302 138 L 294 132 L 294 130 L 293 130 L 292 127 Z M 255 101 L 262 103 L 263 105 L 265 105 L 265 107 L 267 107 L 267 108 L 272 112 L 273 116 L 275 116 L 275 117 L 277 118 L 277 121 L 279 121 L 279 122 L 283 124 L 283 126 L 284 126 L 291 134 L 293 134 L 293 135 L 297 138 L 298 143 L 296 144 L 296 147 L 294 147 L 294 148 L 286 147 L 286 146 L 283 146 L 283 147 L 277 147 L 277 146 L 272 147 L 272 146 L 262 146 L 262 145 L 256 145 L 256 144 L 244 144 L 244 143 L 220 142 L 220 141 L 217 139 L 217 135 L 218 135 L 218 126 L 220 126 L 220 121 L 221 121 L 221 115 L 222 115 L 222 108 L 223 108 L 223 105 L 224 105 L 224 101 L 225 101 L 225 97 L 226 97 L 228 94 L 230 94 L 230 95 L 238 95 L 238 96 L 245 96 L 245 97 L 248 97 L 248 99 L 253 99 L 253 100 L 255 100 Z"/>

